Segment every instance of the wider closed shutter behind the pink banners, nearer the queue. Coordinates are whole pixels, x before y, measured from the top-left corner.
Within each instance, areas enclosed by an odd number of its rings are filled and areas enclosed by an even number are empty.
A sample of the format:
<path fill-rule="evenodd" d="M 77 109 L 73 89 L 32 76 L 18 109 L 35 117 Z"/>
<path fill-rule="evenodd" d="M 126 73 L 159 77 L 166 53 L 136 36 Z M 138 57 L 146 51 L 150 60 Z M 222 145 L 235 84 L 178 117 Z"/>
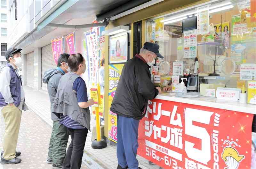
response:
<path fill-rule="evenodd" d="M 49 69 L 56 68 L 57 65 L 53 60 L 52 56 L 52 45 L 49 44 L 47 46 L 44 46 L 42 48 L 42 79 L 44 77 L 44 72 Z M 43 80 L 41 79 L 41 89 L 47 91 L 47 84 L 43 83 Z"/>

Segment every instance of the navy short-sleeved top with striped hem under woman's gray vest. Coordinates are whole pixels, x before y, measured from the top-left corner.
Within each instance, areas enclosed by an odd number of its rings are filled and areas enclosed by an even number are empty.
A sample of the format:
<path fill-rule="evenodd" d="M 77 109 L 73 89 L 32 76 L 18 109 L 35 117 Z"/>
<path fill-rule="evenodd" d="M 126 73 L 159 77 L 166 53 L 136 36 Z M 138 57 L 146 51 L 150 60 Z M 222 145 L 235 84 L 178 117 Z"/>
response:
<path fill-rule="evenodd" d="M 74 84 L 73 90 L 77 92 L 77 101 L 79 102 L 87 102 L 87 89 L 84 80 L 81 77 L 78 77 Z M 72 120 L 69 116 L 60 114 L 60 123 L 65 125 L 70 129 L 85 129 L 85 127 L 77 121 Z"/>

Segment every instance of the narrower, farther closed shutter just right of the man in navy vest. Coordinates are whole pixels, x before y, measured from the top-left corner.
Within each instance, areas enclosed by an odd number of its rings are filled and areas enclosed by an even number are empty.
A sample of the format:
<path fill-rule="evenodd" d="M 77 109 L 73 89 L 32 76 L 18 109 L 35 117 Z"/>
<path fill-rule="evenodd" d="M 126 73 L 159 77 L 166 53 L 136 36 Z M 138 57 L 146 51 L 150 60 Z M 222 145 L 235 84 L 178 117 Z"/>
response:
<path fill-rule="evenodd" d="M 27 86 L 34 88 L 34 52 L 26 55 L 26 69 Z"/>

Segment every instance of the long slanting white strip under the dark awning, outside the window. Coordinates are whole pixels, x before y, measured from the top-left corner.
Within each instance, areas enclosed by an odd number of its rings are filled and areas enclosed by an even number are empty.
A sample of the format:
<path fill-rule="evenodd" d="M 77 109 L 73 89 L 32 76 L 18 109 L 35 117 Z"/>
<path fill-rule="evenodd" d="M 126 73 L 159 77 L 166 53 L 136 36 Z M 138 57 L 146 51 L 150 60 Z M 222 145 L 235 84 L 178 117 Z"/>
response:
<path fill-rule="evenodd" d="M 130 10 L 124 11 L 124 12 L 118 14 L 118 15 L 115 15 L 115 16 L 111 17 L 110 20 L 116 20 L 118 18 L 124 17 L 124 16 L 129 15 L 129 14 L 131 14 L 133 12 L 136 12 L 136 11 L 140 11 L 140 10 L 142 10 L 144 8 L 147 8 L 147 7 L 151 6 L 151 5 L 157 4 L 157 3 L 162 2 L 162 1 L 164 1 L 164 0 L 151 0 L 149 2 L 146 2 L 144 4 L 136 6 L 136 7 L 132 8 L 132 9 L 130 9 Z"/>

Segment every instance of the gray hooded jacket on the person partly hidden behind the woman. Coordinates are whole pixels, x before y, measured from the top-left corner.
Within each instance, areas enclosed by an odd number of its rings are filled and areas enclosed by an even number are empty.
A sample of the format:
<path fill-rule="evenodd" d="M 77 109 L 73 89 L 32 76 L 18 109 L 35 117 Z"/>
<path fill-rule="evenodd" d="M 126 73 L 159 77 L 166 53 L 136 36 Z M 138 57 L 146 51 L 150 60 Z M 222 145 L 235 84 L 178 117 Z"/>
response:
<path fill-rule="evenodd" d="M 52 104 L 54 102 L 54 99 L 58 90 L 60 78 L 63 75 L 64 73 L 57 69 L 51 69 L 44 72 L 43 82 L 47 84 L 47 91 L 48 91 L 50 102 L 51 102 L 51 110 L 52 110 Z M 60 120 L 58 116 L 59 116 L 58 114 L 56 115 L 51 111 L 51 119 L 53 121 Z"/>

